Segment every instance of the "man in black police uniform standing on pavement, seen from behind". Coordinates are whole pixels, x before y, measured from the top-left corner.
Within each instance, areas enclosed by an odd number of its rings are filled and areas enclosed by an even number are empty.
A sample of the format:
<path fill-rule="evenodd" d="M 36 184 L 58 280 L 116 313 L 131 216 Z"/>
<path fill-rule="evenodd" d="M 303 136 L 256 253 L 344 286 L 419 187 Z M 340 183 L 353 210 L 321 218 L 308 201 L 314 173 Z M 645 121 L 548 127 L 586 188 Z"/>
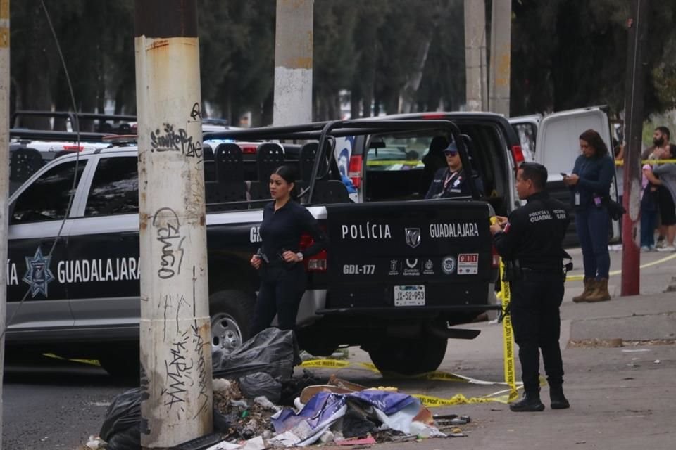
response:
<path fill-rule="evenodd" d="M 519 345 L 525 394 L 511 404 L 512 411 L 542 411 L 539 388 L 539 349 L 549 382 L 552 409 L 570 407 L 563 395 L 563 361 L 558 346 L 563 300 L 561 243 L 568 227 L 563 203 L 544 191 L 547 169 L 535 162 L 520 165 L 516 190 L 527 204 L 509 218 L 499 217 L 491 226 L 496 249 L 505 260 L 512 293 L 511 319 Z"/>

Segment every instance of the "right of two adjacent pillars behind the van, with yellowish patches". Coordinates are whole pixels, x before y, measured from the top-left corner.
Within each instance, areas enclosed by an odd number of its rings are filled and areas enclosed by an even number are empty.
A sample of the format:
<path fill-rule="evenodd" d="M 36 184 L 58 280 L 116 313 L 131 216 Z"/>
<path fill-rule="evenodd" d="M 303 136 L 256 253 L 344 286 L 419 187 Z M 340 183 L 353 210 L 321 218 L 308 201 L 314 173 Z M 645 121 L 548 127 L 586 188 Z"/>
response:
<path fill-rule="evenodd" d="M 512 1 L 493 0 L 489 110 L 509 117 Z"/>

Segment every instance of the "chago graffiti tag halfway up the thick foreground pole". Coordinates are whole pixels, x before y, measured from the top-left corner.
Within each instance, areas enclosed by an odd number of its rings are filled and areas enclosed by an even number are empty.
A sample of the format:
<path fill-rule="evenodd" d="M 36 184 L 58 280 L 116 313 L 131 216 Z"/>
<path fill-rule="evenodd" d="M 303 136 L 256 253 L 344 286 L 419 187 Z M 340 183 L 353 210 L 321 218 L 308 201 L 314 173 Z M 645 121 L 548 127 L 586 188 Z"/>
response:
<path fill-rule="evenodd" d="M 157 210 L 153 216 L 153 226 L 157 229 L 156 239 L 162 243 L 160 269 L 157 271 L 157 276 L 166 279 L 180 274 L 185 236 L 181 236 L 181 224 L 176 212 L 171 208 Z"/>

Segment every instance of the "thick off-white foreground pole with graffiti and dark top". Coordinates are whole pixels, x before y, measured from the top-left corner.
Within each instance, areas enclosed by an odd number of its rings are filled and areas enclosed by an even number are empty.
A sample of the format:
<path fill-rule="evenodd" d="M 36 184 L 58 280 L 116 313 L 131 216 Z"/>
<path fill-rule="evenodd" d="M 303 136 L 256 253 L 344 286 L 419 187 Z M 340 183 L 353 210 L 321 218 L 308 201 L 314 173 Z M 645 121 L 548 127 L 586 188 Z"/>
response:
<path fill-rule="evenodd" d="M 212 430 L 196 0 L 136 1 L 141 445 Z"/>

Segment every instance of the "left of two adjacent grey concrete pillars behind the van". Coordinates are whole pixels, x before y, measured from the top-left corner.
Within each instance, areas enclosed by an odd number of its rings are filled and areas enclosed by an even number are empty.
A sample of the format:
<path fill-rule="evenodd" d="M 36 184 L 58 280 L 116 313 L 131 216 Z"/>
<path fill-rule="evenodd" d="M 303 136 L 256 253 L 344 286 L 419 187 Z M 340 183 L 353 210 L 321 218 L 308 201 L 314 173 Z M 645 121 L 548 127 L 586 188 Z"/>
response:
<path fill-rule="evenodd" d="M 467 110 L 487 110 L 486 6 L 465 0 L 465 97 Z"/>

